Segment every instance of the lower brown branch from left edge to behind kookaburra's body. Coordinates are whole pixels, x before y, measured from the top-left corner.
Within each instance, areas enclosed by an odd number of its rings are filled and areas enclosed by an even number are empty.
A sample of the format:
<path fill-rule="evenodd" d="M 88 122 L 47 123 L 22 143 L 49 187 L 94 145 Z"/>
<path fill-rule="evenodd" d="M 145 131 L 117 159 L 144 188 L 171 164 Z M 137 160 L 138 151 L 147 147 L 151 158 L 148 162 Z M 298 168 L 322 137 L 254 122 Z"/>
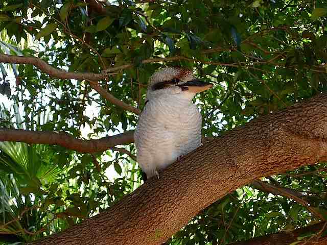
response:
<path fill-rule="evenodd" d="M 101 139 L 77 139 L 67 133 L 55 131 L 29 131 L 22 129 L 1 129 L 0 141 L 17 141 L 38 144 L 57 144 L 66 149 L 82 153 L 106 151 L 115 145 L 129 144 L 134 141 L 134 131 L 107 136 Z"/>

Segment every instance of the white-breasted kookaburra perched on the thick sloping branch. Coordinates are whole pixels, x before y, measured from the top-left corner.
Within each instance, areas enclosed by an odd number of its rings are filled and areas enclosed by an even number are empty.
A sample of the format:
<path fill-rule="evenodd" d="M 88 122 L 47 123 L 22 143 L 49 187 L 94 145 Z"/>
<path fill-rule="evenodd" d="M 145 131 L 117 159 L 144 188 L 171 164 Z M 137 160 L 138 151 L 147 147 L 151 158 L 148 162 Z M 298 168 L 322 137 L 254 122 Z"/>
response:
<path fill-rule="evenodd" d="M 192 99 L 211 87 L 183 68 L 161 68 L 151 76 L 134 133 L 137 162 L 147 178 L 201 145 L 202 116 Z"/>

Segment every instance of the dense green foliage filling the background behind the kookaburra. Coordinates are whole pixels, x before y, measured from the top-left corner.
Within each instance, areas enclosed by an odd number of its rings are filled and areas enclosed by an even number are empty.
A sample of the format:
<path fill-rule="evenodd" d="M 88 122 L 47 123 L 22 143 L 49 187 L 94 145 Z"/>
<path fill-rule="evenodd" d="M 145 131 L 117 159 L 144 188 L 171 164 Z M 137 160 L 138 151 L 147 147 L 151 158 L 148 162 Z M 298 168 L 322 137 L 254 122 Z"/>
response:
<path fill-rule="evenodd" d="M 157 68 L 193 69 L 215 84 L 195 99 L 207 137 L 327 88 L 327 1 L 3 0 L 0 11 L 2 54 L 38 57 L 72 72 L 108 69 L 100 86 L 139 109 Z M 91 81 L 58 79 L 30 64 L 0 68 L 0 100 L 10 101 L 1 105 L 2 128 L 95 139 L 136 125 L 137 115 L 105 100 Z M 52 234 L 133 191 L 142 183 L 135 149 L 122 149 L 83 154 L 1 143 L 0 239 Z M 250 184 L 203 210 L 167 243 L 224 244 L 323 219 L 325 167 L 263 179 L 300 193 L 319 217 Z"/>

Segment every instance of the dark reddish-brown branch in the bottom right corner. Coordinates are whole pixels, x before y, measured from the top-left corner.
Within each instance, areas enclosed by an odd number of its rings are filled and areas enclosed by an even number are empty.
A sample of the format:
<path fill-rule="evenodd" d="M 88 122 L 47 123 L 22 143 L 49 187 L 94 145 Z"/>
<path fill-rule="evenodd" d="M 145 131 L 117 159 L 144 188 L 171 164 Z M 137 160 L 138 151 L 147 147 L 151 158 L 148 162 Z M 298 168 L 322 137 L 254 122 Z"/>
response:
<path fill-rule="evenodd" d="M 319 232 L 324 229 L 324 227 L 325 222 L 320 222 L 294 231 L 282 231 L 267 236 L 254 237 L 247 241 L 233 242 L 228 245 L 289 245 L 294 241 L 298 241 L 297 237 L 308 234 L 309 232 Z M 326 244 L 326 242 L 327 237 L 307 237 L 307 239 L 303 239 L 302 242 L 297 243 L 297 245 L 317 245 Z"/>

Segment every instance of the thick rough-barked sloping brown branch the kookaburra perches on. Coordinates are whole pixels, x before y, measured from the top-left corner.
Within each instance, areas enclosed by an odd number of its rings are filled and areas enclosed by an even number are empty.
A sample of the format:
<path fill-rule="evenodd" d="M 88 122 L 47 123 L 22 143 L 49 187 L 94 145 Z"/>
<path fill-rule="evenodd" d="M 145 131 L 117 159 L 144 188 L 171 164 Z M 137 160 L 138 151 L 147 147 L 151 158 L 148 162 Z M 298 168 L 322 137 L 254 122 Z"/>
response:
<path fill-rule="evenodd" d="M 228 192 L 327 160 L 326 138 L 321 94 L 209 141 L 106 212 L 32 244 L 161 244 Z"/>

